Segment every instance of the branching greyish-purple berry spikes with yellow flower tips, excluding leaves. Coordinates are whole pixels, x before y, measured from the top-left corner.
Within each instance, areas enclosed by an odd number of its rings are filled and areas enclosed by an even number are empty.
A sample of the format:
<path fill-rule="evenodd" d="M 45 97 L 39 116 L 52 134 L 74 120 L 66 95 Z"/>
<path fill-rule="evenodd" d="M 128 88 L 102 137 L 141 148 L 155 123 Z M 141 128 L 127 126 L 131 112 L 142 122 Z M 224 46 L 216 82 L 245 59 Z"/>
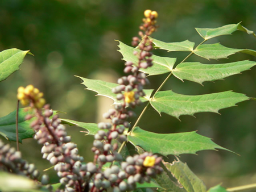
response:
<path fill-rule="evenodd" d="M 67 136 L 65 127 L 60 124 L 61 121 L 58 119 L 58 115 L 53 115 L 49 105 L 45 105 L 46 101 L 43 98 L 43 93 L 32 85 L 19 87 L 18 89 L 17 98 L 20 103 L 22 105 L 29 104 L 34 109 L 36 119 L 30 126 L 35 131 L 34 138 L 38 140 L 39 144 L 43 144 L 41 151 L 43 158 L 46 158 L 54 165 L 54 169 L 60 177 L 60 183 L 65 186 L 64 190 L 58 189 L 57 191 L 97 192 L 106 191 L 109 187 L 112 187 L 115 192 L 130 191 L 136 188 L 137 182 L 150 182 L 151 178 L 156 177 L 157 174 L 163 171 L 160 167 L 162 157 L 152 153 L 144 152 L 141 155 L 128 156 L 123 160 L 123 156 L 117 151 L 118 144 L 114 141 L 127 141 L 127 136 L 123 134 L 125 128 L 130 127 L 127 119 L 135 115 L 128 108 L 134 108 L 141 104 L 139 98 L 145 95 L 143 85 L 149 83 L 145 74 L 139 72 L 139 69 L 146 69 L 152 66 L 152 53 L 150 53 L 152 42 L 148 35 L 151 35 L 156 29 L 155 24 L 158 13 L 146 10 L 144 15 L 146 18 L 143 19 L 143 25 L 141 26 L 144 33 L 142 31 L 139 32 L 143 39 L 133 38 L 133 45 L 139 44 L 140 51 L 133 53 L 138 57 L 138 62 L 126 62 L 124 72 L 131 74 L 127 77 L 119 78 L 119 86 L 112 89 L 113 93 L 117 94 L 117 100 L 120 103 L 115 105 L 115 109 L 110 109 L 103 115 L 110 122 L 98 123 L 100 130 L 94 136 L 93 162 L 82 164 L 84 158 L 79 156 L 77 145 L 71 142 L 70 136 Z M 32 117 L 34 116 L 27 115 L 26 119 L 31 119 Z M 37 181 L 39 172 L 34 170 L 33 164 L 27 165 L 26 162 L 20 160 L 20 152 L 13 152 L 14 149 L 10 151 L 14 155 L 11 155 L 6 161 L 15 160 L 13 161 L 14 165 L 11 166 L 13 168 L 11 172 L 17 174 L 20 172 L 27 173 L 29 176 L 31 174 L 31 178 Z M 6 152 L 9 152 L 8 145 L 2 147 L 1 152 L 6 156 Z M 121 166 L 113 165 L 114 161 L 119 162 Z M 102 169 L 106 162 L 111 162 L 112 166 Z M 8 169 L 10 165 L 3 164 L 3 166 Z M 47 178 L 43 176 L 42 184 L 46 183 Z M 47 188 L 51 190 L 50 185 Z"/>

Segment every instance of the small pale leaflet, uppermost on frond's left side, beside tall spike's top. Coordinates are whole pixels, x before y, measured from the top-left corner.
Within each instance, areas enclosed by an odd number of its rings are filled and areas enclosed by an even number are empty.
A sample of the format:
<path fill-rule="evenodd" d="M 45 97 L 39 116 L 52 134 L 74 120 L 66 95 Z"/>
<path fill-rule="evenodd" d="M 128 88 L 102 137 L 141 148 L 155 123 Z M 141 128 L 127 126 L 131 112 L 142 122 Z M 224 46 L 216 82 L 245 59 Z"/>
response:
<path fill-rule="evenodd" d="M 182 42 L 175 42 L 175 43 L 166 43 L 163 41 L 153 39 L 151 37 L 149 38 L 155 44 L 155 48 L 164 49 L 164 50 L 167 50 L 168 52 L 171 52 L 171 51 L 190 51 L 191 52 L 193 51 L 193 48 L 195 46 L 195 43 L 189 40 L 185 40 Z"/>

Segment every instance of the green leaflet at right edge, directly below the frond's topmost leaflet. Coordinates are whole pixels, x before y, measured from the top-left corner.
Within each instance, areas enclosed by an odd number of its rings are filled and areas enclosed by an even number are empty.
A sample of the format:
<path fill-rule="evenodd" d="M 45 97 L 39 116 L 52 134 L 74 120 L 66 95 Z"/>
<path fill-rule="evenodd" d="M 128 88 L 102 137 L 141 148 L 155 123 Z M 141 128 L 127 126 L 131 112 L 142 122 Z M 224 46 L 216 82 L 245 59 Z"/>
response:
<path fill-rule="evenodd" d="M 256 52 L 254 50 L 228 48 L 221 45 L 220 43 L 199 45 L 193 52 L 196 55 L 208 60 L 228 58 L 228 56 L 233 55 L 237 52 L 256 56 Z"/>

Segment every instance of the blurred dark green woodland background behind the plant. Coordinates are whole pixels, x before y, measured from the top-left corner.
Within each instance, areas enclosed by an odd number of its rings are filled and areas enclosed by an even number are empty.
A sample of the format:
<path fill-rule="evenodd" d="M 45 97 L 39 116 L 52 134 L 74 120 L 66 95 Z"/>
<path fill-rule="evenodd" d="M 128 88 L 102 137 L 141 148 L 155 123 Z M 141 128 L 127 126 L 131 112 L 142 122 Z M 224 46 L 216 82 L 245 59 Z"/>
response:
<path fill-rule="evenodd" d="M 26 56 L 21 70 L 0 82 L 0 116 L 15 110 L 19 86 L 33 84 L 44 92 L 54 110 L 67 112 L 61 114 L 61 118 L 97 123 L 112 101 L 94 97 L 96 93 L 84 90 L 85 86 L 80 85 L 80 79 L 74 75 L 112 82 L 123 76 L 122 56 L 116 51 L 118 43 L 114 40 L 130 45 L 146 9 L 159 12 L 160 27 L 154 37 L 166 42 L 188 39 L 199 44 L 203 39 L 195 27 L 214 28 L 241 21 L 243 26 L 256 31 L 255 0 L 1 0 L 0 51 L 30 49 L 35 56 Z M 217 37 L 208 43 L 217 42 L 231 48 L 256 49 L 255 37 L 240 31 L 232 36 Z M 177 61 L 187 55 L 159 50 L 155 54 L 178 57 Z M 255 61 L 255 57 L 243 54 L 219 61 L 207 61 L 196 56 L 189 60 L 210 64 L 246 59 Z M 151 87 L 157 88 L 166 76 L 150 77 Z M 205 82 L 204 86 L 171 78 L 163 90 L 172 89 L 176 93 L 191 95 L 234 90 L 256 97 L 255 85 L 256 69 L 253 68 L 225 81 Z M 137 108 L 137 113 L 142 108 Z M 240 154 L 203 151 L 198 152 L 199 156 L 180 157 L 208 187 L 221 182 L 223 186 L 232 187 L 256 181 L 255 110 L 256 102 L 246 101 L 239 103 L 238 107 L 221 110 L 221 115 L 201 113 L 196 114 L 196 118 L 181 116 L 179 122 L 166 114 L 160 117 L 150 108 L 139 126 L 161 133 L 198 130 L 197 133 L 211 137 L 222 147 Z M 68 128 L 73 141 L 79 145 L 80 154 L 86 161 L 91 161 L 93 137 L 84 136 L 80 130 Z M 36 141 L 24 140 L 21 148 L 23 157 L 36 162 L 40 170 L 51 166 L 41 159 L 40 146 Z M 50 170 L 48 174 L 54 172 Z M 56 177 L 52 178 L 54 181 L 57 181 Z"/>

